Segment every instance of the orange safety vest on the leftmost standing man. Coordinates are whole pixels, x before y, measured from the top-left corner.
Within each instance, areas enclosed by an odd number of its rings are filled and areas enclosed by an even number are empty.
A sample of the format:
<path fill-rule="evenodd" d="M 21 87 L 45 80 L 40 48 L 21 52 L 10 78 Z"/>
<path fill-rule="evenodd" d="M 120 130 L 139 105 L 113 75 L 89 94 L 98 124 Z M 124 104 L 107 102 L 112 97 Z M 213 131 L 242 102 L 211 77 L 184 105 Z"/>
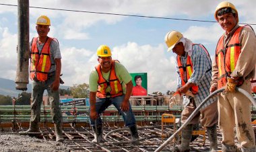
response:
<path fill-rule="evenodd" d="M 38 38 L 32 39 L 31 60 L 30 60 L 30 79 L 46 81 L 51 68 L 50 44 L 53 38 L 47 37 L 41 52 L 36 45 Z"/>

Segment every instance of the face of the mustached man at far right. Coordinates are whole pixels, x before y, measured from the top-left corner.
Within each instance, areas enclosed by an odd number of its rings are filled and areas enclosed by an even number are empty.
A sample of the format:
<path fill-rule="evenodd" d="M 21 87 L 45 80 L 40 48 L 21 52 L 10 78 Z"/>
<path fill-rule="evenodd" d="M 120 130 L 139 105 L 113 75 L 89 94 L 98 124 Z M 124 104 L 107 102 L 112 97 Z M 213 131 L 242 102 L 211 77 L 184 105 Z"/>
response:
<path fill-rule="evenodd" d="M 218 23 L 226 32 L 231 32 L 231 30 L 236 26 L 238 17 L 234 17 L 232 13 L 224 13 L 223 15 L 218 15 Z"/>

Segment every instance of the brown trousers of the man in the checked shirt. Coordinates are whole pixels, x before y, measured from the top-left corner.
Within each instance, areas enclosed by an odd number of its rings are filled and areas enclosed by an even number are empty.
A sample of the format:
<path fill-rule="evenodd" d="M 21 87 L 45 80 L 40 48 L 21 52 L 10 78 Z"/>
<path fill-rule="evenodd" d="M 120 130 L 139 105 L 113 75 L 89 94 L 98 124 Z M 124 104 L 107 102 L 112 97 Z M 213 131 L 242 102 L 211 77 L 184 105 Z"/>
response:
<path fill-rule="evenodd" d="M 199 121 L 201 124 L 205 127 L 213 126 L 218 122 L 218 107 L 217 102 L 214 102 L 204 108 L 203 110 L 200 110 L 196 116 L 189 122 L 189 124 L 198 124 Z M 195 110 L 195 102 L 193 99 L 190 100 L 189 104 L 183 109 L 181 114 L 181 122 L 185 122 L 187 118 L 192 114 L 192 112 Z"/>

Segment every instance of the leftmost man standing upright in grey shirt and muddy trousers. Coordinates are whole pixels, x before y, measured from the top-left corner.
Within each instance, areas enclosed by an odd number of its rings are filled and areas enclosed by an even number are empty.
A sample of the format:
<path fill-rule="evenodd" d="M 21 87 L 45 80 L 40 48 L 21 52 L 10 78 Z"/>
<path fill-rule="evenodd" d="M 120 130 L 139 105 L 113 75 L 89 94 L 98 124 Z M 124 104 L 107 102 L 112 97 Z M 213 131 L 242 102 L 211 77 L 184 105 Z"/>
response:
<path fill-rule="evenodd" d="M 55 124 L 56 141 L 62 142 L 61 109 L 59 107 L 59 83 L 61 74 L 61 52 L 56 38 L 48 37 L 51 21 L 46 15 L 38 17 L 38 37 L 30 42 L 30 79 L 32 80 L 32 102 L 30 128 L 26 132 L 39 132 L 40 108 L 46 89 Z M 25 133 L 26 133 L 25 132 Z"/>

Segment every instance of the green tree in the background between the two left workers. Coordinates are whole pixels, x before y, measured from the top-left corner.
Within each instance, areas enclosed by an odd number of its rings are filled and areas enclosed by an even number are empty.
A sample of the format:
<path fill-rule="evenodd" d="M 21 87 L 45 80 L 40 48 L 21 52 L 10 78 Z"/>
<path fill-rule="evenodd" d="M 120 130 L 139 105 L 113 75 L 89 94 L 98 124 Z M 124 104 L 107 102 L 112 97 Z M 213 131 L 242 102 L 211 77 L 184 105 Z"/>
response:
<path fill-rule="evenodd" d="M 73 98 L 88 98 L 89 96 L 89 85 L 86 83 L 73 85 L 70 90 Z"/>

